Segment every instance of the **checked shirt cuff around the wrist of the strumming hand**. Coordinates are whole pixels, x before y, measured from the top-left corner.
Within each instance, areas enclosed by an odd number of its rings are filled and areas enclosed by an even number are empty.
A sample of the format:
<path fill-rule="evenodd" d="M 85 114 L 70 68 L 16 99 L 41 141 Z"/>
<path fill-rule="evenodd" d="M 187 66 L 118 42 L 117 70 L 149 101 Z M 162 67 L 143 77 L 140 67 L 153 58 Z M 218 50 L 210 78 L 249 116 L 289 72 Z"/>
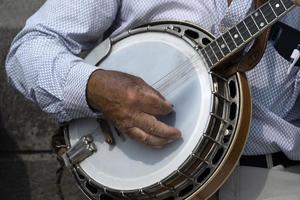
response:
<path fill-rule="evenodd" d="M 64 108 L 67 121 L 78 118 L 96 118 L 99 113 L 89 107 L 86 100 L 86 86 L 91 74 L 98 68 L 80 62 L 73 66 L 67 76 L 64 87 Z"/>

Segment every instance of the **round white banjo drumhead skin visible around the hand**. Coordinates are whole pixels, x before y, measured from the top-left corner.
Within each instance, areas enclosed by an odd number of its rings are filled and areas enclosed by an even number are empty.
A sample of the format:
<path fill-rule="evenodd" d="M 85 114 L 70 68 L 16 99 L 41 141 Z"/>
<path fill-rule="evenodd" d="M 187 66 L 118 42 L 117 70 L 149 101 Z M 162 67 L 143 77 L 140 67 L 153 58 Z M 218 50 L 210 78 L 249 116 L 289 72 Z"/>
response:
<path fill-rule="evenodd" d="M 100 65 L 140 76 L 152 85 L 192 56 L 195 58 L 195 50 L 185 41 L 166 33 L 147 32 L 115 44 Z M 105 143 L 94 119 L 70 124 L 71 146 L 86 134 L 92 133 L 95 138 L 98 151 L 80 164 L 87 175 L 112 189 L 135 190 L 157 183 L 178 169 L 205 132 L 212 109 L 211 76 L 201 56 L 196 57 L 188 64 L 198 70 L 166 96 L 176 112 L 167 122 L 182 131 L 181 140 L 152 149 L 115 135 L 116 145 L 112 147 Z"/>

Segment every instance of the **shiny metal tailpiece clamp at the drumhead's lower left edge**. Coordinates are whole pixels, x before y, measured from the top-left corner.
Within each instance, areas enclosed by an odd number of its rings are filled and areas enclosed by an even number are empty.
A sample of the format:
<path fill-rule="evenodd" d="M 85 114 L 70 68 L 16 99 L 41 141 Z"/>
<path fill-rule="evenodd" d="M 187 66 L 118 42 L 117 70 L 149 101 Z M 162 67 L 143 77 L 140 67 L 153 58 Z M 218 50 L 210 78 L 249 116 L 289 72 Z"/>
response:
<path fill-rule="evenodd" d="M 66 153 L 62 155 L 66 167 L 72 167 L 85 160 L 97 151 L 94 138 L 91 135 L 83 136 Z"/>

